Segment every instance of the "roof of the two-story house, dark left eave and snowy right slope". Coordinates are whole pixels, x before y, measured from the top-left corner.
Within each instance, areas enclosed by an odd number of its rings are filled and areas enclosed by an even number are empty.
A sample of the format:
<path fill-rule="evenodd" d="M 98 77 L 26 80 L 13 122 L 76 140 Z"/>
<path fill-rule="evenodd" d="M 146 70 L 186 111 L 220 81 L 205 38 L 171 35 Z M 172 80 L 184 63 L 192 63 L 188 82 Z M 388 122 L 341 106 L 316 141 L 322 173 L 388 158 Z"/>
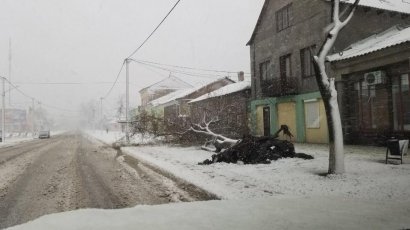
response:
<path fill-rule="evenodd" d="M 248 43 L 246 44 L 247 46 L 252 44 L 253 40 L 255 39 L 257 30 L 260 24 L 262 23 L 262 19 L 267 11 L 269 1 L 270 0 L 265 0 L 265 3 L 263 4 L 261 13 L 259 14 L 258 21 L 256 22 L 256 26 L 252 32 L 252 36 L 249 39 Z M 329 0 L 325 0 L 325 1 L 329 1 Z M 353 4 L 354 0 L 341 0 L 340 2 Z M 359 5 L 364 6 L 364 7 L 380 9 L 380 10 L 387 10 L 387 11 L 398 12 L 398 13 L 403 13 L 403 14 L 410 14 L 410 0 L 360 0 Z"/>

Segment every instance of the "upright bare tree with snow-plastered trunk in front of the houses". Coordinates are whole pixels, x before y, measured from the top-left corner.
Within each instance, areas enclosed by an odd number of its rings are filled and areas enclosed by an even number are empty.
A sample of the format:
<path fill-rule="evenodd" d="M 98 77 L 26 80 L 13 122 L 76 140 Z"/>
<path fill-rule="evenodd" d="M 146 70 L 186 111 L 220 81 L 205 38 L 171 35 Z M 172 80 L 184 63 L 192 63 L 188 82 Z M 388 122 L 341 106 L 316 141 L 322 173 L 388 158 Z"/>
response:
<path fill-rule="evenodd" d="M 344 146 L 343 131 L 340 118 L 339 105 L 337 102 L 337 91 L 334 77 L 329 77 L 326 73 L 326 56 L 334 46 L 339 32 L 349 23 L 350 19 L 359 4 L 360 0 L 355 0 L 352 5 L 347 6 L 340 12 L 340 0 L 332 0 L 332 23 L 326 39 L 320 47 L 318 54 L 314 56 L 314 68 L 316 81 L 326 110 L 326 119 L 329 126 L 329 173 L 344 173 Z"/>

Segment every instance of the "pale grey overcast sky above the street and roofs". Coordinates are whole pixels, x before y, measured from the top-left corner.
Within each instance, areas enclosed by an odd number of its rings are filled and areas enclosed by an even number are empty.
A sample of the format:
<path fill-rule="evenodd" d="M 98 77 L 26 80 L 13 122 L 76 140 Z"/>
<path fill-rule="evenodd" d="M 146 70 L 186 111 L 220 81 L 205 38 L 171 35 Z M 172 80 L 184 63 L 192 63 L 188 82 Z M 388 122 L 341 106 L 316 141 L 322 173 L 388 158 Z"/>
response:
<path fill-rule="evenodd" d="M 51 114 L 64 112 L 47 106 L 78 110 L 81 103 L 99 101 L 107 94 L 124 58 L 145 40 L 175 2 L 1 0 L 0 75 L 9 75 L 11 40 L 10 80 L 41 101 Z M 262 5 L 263 0 L 182 0 L 133 58 L 250 72 L 246 43 Z M 132 106 L 139 104 L 140 89 L 169 75 L 137 63 L 130 65 L 130 72 Z M 105 109 L 113 109 L 124 96 L 124 82 L 125 71 L 104 100 Z M 12 107 L 28 108 L 31 100 L 13 90 L 11 103 Z"/>

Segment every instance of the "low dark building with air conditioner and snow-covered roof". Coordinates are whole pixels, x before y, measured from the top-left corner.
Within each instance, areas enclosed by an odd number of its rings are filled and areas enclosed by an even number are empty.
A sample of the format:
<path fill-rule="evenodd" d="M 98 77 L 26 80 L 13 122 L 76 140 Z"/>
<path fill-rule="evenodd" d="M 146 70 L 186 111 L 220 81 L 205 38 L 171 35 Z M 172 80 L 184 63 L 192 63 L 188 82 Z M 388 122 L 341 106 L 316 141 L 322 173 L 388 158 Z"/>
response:
<path fill-rule="evenodd" d="M 350 144 L 410 139 L 410 27 L 394 26 L 328 57 Z"/>

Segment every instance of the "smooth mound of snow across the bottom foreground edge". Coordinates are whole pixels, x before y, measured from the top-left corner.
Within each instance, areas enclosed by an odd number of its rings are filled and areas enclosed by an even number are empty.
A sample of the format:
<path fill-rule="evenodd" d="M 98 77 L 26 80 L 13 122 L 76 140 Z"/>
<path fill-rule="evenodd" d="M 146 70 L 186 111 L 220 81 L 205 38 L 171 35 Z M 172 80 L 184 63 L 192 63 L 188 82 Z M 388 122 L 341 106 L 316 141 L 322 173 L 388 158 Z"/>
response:
<path fill-rule="evenodd" d="M 10 229 L 406 229 L 409 214 L 397 201 L 286 197 L 78 210 Z"/>

